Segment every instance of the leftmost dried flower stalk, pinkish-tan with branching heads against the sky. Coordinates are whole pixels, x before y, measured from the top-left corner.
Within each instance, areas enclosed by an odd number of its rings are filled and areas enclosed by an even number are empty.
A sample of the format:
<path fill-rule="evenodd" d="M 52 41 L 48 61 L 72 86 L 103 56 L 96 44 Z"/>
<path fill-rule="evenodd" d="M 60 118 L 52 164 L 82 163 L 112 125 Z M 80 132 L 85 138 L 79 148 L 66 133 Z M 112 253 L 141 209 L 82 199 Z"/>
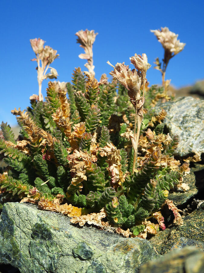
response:
<path fill-rule="evenodd" d="M 52 49 L 50 46 L 45 45 L 45 41 L 40 38 L 31 39 L 31 47 L 35 52 L 36 58 L 31 61 L 37 62 L 37 81 L 39 85 L 39 101 L 43 100 L 42 95 L 42 82 L 44 79 L 57 79 L 57 70 L 50 67 L 50 64 L 56 59 L 59 54 L 57 50 Z M 40 62 L 41 61 L 41 62 Z M 41 66 L 40 66 L 41 63 Z M 50 68 L 50 73 L 47 70 Z M 46 74 L 47 73 L 47 74 Z"/>

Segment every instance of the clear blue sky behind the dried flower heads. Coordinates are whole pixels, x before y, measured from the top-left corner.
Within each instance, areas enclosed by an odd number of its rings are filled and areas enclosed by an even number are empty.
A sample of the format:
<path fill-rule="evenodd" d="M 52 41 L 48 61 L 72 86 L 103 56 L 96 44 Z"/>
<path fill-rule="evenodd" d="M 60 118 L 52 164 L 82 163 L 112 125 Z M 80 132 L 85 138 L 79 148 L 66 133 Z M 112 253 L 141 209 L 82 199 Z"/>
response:
<path fill-rule="evenodd" d="M 74 35 L 81 29 L 94 29 L 99 35 L 93 46 L 96 78 L 111 71 L 106 64 L 125 62 L 134 53 L 146 53 L 152 65 L 147 72 L 150 84 L 160 83 L 160 72 L 153 69 L 154 59 L 162 59 L 163 48 L 150 29 L 167 26 L 179 34 L 184 50 L 171 59 L 167 79 L 176 86 L 193 84 L 203 78 L 202 1 L 11 1 L 1 0 L 1 97 L 0 121 L 15 124 L 14 107 L 25 109 L 29 96 L 38 93 L 36 62 L 30 39 L 46 41 L 60 58 L 52 66 L 59 81 L 70 81 L 74 67 L 83 70 L 85 60 L 78 58 L 83 49 Z M 110 76 L 110 75 L 108 75 Z M 47 80 L 42 93 L 45 96 Z"/>

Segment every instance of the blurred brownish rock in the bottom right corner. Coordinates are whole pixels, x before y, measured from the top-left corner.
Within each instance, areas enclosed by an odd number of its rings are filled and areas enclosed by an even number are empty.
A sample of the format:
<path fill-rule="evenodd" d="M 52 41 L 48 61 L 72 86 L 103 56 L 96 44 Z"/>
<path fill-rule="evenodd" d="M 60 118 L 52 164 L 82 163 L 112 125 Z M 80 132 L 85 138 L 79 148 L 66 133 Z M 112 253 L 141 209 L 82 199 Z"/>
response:
<path fill-rule="evenodd" d="M 166 255 L 147 262 L 140 273 L 203 273 L 204 253 L 196 248 L 172 250 Z"/>

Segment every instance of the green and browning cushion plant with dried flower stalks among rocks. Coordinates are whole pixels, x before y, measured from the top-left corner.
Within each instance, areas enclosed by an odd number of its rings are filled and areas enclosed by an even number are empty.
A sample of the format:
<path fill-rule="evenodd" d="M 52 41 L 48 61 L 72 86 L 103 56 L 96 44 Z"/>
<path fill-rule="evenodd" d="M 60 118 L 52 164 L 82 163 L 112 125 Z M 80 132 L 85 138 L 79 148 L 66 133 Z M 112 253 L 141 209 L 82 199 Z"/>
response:
<path fill-rule="evenodd" d="M 1 168 L 2 197 L 33 202 L 73 217 L 72 223 L 95 224 L 126 237 L 146 238 L 159 227 L 164 230 L 160 209 L 165 204 L 175 224 L 182 224 L 167 197 L 174 187 L 188 190 L 183 176 L 189 165 L 173 157 L 178 137 L 163 133 L 166 112 L 154 114 L 164 88 L 147 87 L 151 65 L 146 54 L 130 58 L 132 70 L 125 63 L 113 66 L 111 82 L 105 74 L 98 81 L 92 59 L 96 33 L 81 30 L 76 35 L 86 52 L 79 57 L 87 59 L 89 71 L 76 68 L 66 86 L 48 83 L 46 101 L 39 88 L 27 111 L 12 110 L 21 126 L 17 140 L 2 122 L 0 151 L 8 164 Z M 31 40 L 31 45 L 37 62 L 45 62 L 41 55 L 46 50 L 48 66 L 58 56 L 41 39 Z M 54 77 L 52 72 L 44 72 L 44 78 Z"/>

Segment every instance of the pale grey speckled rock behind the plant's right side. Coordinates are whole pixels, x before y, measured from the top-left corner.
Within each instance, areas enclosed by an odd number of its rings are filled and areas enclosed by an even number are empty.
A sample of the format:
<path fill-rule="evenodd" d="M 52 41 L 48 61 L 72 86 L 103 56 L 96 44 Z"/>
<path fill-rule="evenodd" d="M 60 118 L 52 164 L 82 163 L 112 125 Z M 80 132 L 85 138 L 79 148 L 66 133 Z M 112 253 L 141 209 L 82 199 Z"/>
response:
<path fill-rule="evenodd" d="M 204 101 L 193 97 L 179 97 L 160 103 L 156 107 L 156 113 L 161 109 L 167 112 L 164 123 L 170 135 L 179 136 L 176 153 L 181 157 L 204 153 Z"/>

